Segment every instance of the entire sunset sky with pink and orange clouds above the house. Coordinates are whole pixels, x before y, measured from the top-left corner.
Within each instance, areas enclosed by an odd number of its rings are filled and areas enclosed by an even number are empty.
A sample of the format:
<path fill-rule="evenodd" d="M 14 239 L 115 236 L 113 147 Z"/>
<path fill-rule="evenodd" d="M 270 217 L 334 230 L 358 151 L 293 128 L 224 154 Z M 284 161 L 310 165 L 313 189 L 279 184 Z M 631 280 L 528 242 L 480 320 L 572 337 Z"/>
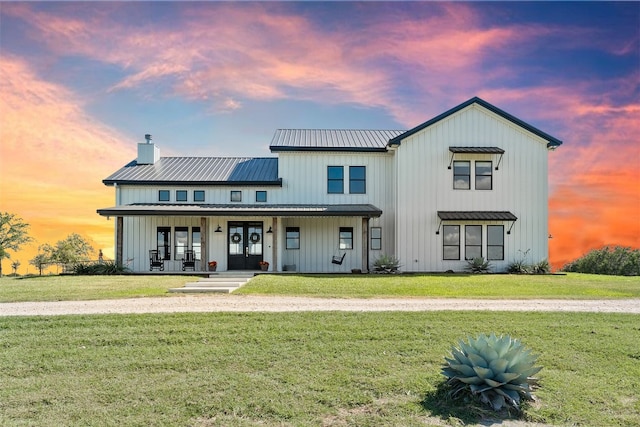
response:
<path fill-rule="evenodd" d="M 145 133 L 268 156 L 277 128 L 409 129 L 473 96 L 564 141 L 555 267 L 640 247 L 638 2 L 0 2 L 0 211 L 36 239 L 12 260 L 71 233 L 113 257 L 102 179 Z"/>

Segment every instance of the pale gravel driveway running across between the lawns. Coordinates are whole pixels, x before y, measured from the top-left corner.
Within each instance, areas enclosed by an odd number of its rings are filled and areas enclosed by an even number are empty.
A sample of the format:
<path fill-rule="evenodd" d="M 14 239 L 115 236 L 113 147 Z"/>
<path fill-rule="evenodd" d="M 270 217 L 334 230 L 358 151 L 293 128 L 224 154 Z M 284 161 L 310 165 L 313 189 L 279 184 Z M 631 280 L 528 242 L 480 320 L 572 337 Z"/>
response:
<path fill-rule="evenodd" d="M 426 298 L 308 298 L 184 295 L 94 301 L 0 303 L 0 316 L 105 313 L 290 312 L 290 311 L 559 311 L 640 314 L 640 299 L 467 300 Z"/>

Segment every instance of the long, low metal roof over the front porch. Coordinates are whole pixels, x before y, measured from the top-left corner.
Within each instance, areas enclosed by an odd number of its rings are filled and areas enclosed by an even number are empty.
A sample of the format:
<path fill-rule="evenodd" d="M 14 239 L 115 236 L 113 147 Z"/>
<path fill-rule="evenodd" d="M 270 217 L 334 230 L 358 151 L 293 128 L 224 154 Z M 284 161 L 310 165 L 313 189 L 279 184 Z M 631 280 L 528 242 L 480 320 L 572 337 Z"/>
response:
<path fill-rule="evenodd" d="M 370 204 L 356 205 L 240 205 L 136 203 L 98 209 L 102 216 L 354 216 L 377 218 L 382 210 Z"/>

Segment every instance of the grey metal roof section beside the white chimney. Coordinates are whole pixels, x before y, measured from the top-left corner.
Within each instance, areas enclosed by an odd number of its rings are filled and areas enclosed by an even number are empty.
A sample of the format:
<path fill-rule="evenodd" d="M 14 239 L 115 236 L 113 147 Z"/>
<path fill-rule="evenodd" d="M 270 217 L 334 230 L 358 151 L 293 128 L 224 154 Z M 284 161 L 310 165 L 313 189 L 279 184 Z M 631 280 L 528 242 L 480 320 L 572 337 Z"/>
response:
<path fill-rule="evenodd" d="M 282 185 L 276 157 L 161 157 L 152 165 L 139 165 L 134 160 L 102 182 Z"/>

